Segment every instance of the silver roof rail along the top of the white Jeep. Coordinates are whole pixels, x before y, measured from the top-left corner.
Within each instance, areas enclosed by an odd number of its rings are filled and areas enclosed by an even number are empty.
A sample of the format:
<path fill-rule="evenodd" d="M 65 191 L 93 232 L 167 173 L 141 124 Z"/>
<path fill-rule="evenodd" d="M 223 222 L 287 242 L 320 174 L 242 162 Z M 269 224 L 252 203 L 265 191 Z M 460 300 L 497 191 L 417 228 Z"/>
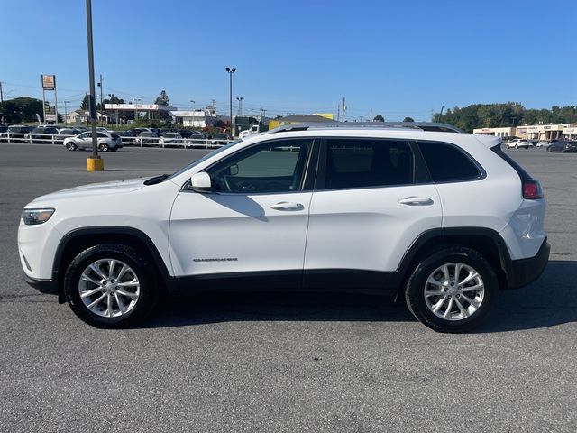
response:
<path fill-rule="evenodd" d="M 436 133 L 463 133 L 462 130 L 452 124 L 438 124 L 433 122 L 327 122 L 327 123 L 304 123 L 304 124 L 284 124 L 278 128 L 271 129 L 263 134 L 286 133 L 290 131 L 309 131 L 313 129 L 394 129 L 409 128 L 420 131 L 430 131 Z"/>

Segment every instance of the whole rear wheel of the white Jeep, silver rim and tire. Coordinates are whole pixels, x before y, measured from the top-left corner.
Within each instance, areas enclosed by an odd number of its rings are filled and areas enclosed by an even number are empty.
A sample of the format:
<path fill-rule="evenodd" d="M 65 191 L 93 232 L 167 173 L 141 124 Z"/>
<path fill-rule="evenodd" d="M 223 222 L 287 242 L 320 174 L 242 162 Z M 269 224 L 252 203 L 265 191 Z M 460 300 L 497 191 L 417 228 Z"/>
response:
<path fill-rule="evenodd" d="M 438 332 L 465 332 L 486 316 L 499 281 L 480 253 L 452 247 L 418 263 L 405 291 L 408 309 Z"/>

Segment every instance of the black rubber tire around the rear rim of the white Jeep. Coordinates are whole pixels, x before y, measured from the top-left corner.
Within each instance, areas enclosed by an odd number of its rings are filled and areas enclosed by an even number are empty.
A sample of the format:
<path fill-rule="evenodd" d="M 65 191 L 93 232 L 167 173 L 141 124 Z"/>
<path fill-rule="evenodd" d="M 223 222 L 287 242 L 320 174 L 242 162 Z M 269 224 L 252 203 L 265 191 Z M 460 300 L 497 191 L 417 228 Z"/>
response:
<path fill-rule="evenodd" d="M 481 305 L 469 317 L 460 318 L 455 321 L 439 318 L 426 305 L 426 281 L 437 268 L 443 266 L 445 263 L 463 263 L 470 266 L 481 277 L 484 284 Z M 408 279 L 405 299 L 411 313 L 427 327 L 437 332 L 460 333 L 469 331 L 481 323 L 482 319 L 485 318 L 489 312 L 498 290 L 499 281 L 490 263 L 488 263 L 480 253 L 470 248 L 455 246 L 429 255 L 417 264 Z M 461 295 L 456 296 L 461 297 Z M 463 304 L 466 304 L 466 301 L 463 300 Z M 447 302 L 447 308 L 448 305 L 453 305 L 453 309 L 456 309 L 456 304 L 449 304 Z"/>

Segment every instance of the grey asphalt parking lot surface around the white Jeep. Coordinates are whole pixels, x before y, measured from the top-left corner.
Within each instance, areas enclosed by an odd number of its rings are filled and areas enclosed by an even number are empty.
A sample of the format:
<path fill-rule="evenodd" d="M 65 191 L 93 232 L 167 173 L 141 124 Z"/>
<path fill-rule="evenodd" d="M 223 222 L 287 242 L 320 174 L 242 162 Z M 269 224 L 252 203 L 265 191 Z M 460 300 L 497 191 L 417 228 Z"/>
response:
<path fill-rule="evenodd" d="M 436 334 L 353 295 L 168 299 L 100 330 L 21 278 L 16 230 L 41 194 L 169 173 L 206 152 L 0 144 L 0 431 L 567 431 L 577 426 L 577 154 L 506 151 L 541 180 L 552 255 L 487 323 Z M 498 193 L 498 191 L 495 191 Z"/>

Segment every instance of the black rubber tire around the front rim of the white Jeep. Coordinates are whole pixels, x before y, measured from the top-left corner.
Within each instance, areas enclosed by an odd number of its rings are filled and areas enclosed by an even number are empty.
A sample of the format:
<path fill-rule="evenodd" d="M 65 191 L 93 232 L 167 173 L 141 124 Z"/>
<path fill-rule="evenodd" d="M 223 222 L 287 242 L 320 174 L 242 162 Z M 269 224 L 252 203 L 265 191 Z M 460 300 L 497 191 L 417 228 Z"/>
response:
<path fill-rule="evenodd" d="M 131 309 L 119 317 L 107 318 L 97 315 L 84 304 L 80 298 L 79 285 L 81 276 L 91 263 L 98 260 L 113 259 L 121 261 L 132 268 L 133 274 L 140 282 L 140 293 Z M 104 270 L 103 270 L 104 272 Z M 114 282 L 114 280 L 113 280 Z M 96 288 L 96 285 L 93 286 Z M 130 327 L 150 315 L 159 296 L 157 273 L 143 259 L 142 254 L 131 246 L 123 244 L 98 244 L 79 253 L 69 264 L 64 277 L 64 293 L 70 308 L 87 324 L 101 328 Z M 104 296 L 98 291 L 94 295 Z M 117 305 L 117 304 L 116 304 Z"/>

